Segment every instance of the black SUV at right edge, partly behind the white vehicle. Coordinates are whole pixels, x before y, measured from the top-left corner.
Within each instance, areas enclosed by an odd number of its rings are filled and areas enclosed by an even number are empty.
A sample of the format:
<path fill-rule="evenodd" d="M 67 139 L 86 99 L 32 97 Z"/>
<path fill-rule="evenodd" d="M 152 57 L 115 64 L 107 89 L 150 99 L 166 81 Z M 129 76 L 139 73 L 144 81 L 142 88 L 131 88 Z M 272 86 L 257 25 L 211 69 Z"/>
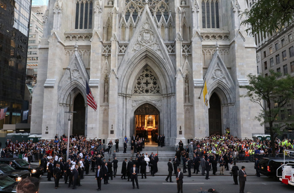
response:
<path fill-rule="evenodd" d="M 294 164 L 294 159 L 286 158 L 285 162 Z M 262 158 L 259 162 L 258 171 L 268 177 L 277 177 L 277 169 L 284 163 L 284 158 Z M 281 168 L 278 175 L 282 175 Z"/>

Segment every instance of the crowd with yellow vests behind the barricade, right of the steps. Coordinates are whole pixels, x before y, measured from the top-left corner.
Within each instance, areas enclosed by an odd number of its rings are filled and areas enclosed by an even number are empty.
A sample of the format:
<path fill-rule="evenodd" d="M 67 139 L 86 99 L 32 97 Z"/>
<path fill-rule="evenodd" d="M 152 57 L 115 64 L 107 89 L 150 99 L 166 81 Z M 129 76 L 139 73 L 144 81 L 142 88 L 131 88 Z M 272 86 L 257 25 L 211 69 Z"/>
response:
<path fill-rule="evenodd" d="M 287 138 L 280 140 L 276 138 L 275 157 L 283 157 L 285 149 L 293 149 L 293 145 L 294 140 Z M 233 162 L 254 162 L 255 158 L 260 160 L 263 157 L 273 156 L 270 140 L 237 138 L 230 135 L 229 128 L 226 129 L 224 135 L 213 134 L 202 139 L 191 140 L 190 144 L 186 147 L 184 147 L 183 142 L 180 141 L 176 150 L 176 156 L 180 158 L 179 164 L 181 164 L 181 161 L 182 163 L 186 163 L 189 154 L 194 158 L 199 155 L 200 160 L 202 156 L 205 156 L 205 159 L 210 157 L 210 160 L 213 160 L 212 158 L 215 157 L 217 162 L 219 162 L 221 158 L 224 158 L 225 168 L 228 167 L 230 159 L 233 160 Z"/>

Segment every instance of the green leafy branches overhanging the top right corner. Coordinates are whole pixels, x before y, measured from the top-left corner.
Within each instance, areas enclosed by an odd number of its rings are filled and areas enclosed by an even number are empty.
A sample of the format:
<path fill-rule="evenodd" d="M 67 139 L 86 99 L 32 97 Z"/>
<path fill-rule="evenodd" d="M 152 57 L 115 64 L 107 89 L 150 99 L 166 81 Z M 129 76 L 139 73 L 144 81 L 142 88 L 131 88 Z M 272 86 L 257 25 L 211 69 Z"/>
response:
<path fill-rule="evenodd" d="M 254 35 L 261 31 L 272 35 L 294 21 L 293 0 L 257 0 L 250 9 L 240 14 L 245 20 L 241 25 L 248 26 L 245 31 Z"/>

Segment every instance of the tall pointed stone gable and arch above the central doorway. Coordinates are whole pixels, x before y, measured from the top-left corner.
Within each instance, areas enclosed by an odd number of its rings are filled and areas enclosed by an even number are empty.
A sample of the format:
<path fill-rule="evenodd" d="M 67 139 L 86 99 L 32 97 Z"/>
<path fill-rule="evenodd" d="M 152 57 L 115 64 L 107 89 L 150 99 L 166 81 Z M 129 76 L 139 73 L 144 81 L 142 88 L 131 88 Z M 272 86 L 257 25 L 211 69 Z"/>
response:
<path fill-rule="evenodd" d="M 139 73 L 139 69 L 146 64 L 157 73 L 162 85 L 162 93 L 174 92 L 173 77 L 176 70 L 148 5 L 145 5 L 134 33 L 138 33 L 139 37 L 130 39 L 118 66 L 119 77 L 122 77 L 119 79 L 119 92 L 132 94 L 134 87 L 131 83 L 137 78 L 135 75 Z M 122 74 L 123 76 L 120 76 Z"/>

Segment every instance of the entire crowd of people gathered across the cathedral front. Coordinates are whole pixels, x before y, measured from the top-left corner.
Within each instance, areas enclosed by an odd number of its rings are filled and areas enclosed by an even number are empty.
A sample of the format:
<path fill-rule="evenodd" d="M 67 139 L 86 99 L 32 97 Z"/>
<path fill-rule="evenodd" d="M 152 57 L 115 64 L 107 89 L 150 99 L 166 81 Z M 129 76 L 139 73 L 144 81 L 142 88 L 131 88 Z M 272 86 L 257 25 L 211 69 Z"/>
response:
<path fill-rule="evenodd" d="M 118 139 L 114 143 L 111 140 L 104 145 L 96 138 L 86 140 L 83 136 L 70 136 L 69 159 L 66 160 L 67 142 L 64 141 L 65 138 L 67 138 L 65 135 L 60 137 L 56 135 L 52 140 L 39 140 L 37 143 L 33 143 L 31 140 L 27 142 L 16 140 L 13 142 L 8 139 L 5 147 L 1 150 L 1 157 L 8 158 L 12 155 L 13 157 L 24 158 L 28 162 L 40 160 L 44 172 L 47 172 L 47 180 L 51 181 L 51 178 L 54 177 L 56 189 L 59 187 L 59 180 L 62 178 L 65 181 L 64 183 L 68 184 L 68 187 L 72 185 L 72 188 L 76 189 L 77 186 L 81 186 L 84 173 L 89 174 L 90 167 L 92 172 L 96 172 L 98 190 L 101 189 L 102 179 L 104 184 L 109 184 L 108 179 L 113 180 L 116 177 L 118 168 L 116 153 L 119 152 Z M 157 139 L 158 146 L 165 145 L 164 136 L 158 135 Z M 145 146 L 144 138 L 133 135 L 131 142 L 129 142 L 130 145 L 127 145 L 128 141 L 125 136 L 123 152 L 126 153 L 127 148 L 130 148 L 132 157 L 121 163 L 121 179 L 128 179 L 128 181 L 131 179 L 134 183 L 139 172 L 142 178 L 146 178 L 148 172 L 154 176 L 158 172 L 158 155 L 142 153 Z M 113 159 L 110 159 L 106 155 L 114 145 Z M 275 153 L 277 155 L 282 154 L 285 149 L 293 149 L 293 145 L 294 140 L 276 138 Z M 104 149 L 104 147 L 108 148 Z M 240 158 L 244 161 L 255 161 L 260 157 L 270 156 L 272 153 L 270 140 L 237 138 L 231 136 L 228 129 L 224 135 L 214 134 L 202 139 L 191 140 L 185 146 L 180 141 L 175 158 L 171 160 L 171 163 L 174 174 L 182 163 L 183 173 L 188 172 L 188 177 L 191 177 L 191 170 L 193 170 L 193 173 L 201 172 L 203 176 L 206 175 L 206 179 L 209 179 L 209 170 L 212 170 L 213 175 L 216 175 L 217 165 L 219 165 L 220 175 L 224 174 L 224 170 L 230 170 L 233 175 L 236 173 L 235 169 L 233 170 L 234 162 L 240 160 Z M 168 168 L 170 173 L 170 165 L 168 165 Z M 138 188 L 138 184 L 136 185 Z"/>

